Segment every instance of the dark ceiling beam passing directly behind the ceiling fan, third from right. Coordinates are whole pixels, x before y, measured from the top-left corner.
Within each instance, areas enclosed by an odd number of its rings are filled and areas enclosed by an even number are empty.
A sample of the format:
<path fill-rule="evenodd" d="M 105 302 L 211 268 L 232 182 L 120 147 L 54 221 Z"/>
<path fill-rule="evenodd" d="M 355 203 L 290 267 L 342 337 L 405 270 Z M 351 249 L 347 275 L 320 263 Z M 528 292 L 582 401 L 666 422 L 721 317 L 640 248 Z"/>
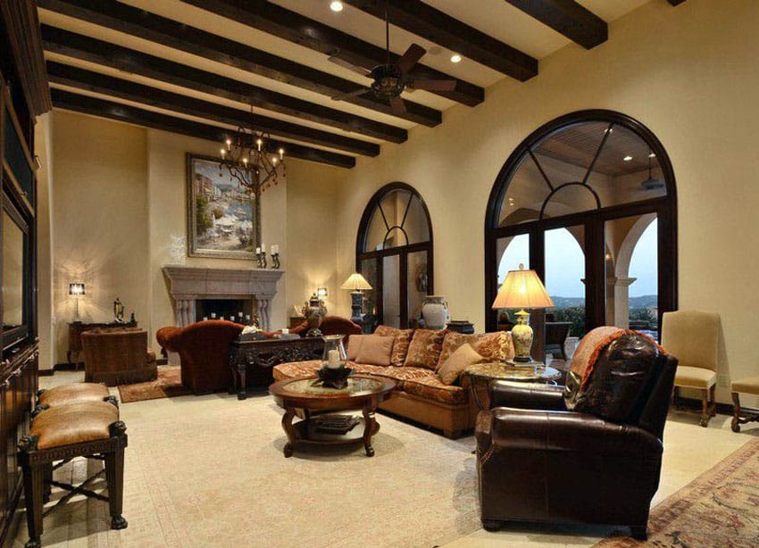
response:
<path fill-rule="evenodd" d="M 288 40 L 325 55 L 341 54 L 355 65 L 371 71 L 378 64 L 387 62 L 384 47 L 374 46 L 346 32 L 333 29 L 319 21 L 309 19 L 266 0 L 182 0 L 207 12 L 238 21 L 253 29 Z M 390 62 L 400 55 L 390 54 Z M 453 91 L 430 91 L 451 101 L 476 106 L 485 100 L 485 90 L 462 79 L 455 79 L 445 72 L 417 64 L 410 74 L 418 79 L 454 79 Z"/>

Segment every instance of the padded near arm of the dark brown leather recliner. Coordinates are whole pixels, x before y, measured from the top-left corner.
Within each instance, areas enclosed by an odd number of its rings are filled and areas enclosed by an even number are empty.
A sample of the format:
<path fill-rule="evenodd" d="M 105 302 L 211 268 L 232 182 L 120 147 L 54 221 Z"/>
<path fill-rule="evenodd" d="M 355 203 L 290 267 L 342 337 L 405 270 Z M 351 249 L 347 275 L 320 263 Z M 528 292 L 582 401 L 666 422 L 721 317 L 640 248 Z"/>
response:
<path fill-rule="evenodd" d="M 661 440 L 643 428 L 569 411 L 493 409 L 492 443 L 505 449 L 659 456 Z"/>

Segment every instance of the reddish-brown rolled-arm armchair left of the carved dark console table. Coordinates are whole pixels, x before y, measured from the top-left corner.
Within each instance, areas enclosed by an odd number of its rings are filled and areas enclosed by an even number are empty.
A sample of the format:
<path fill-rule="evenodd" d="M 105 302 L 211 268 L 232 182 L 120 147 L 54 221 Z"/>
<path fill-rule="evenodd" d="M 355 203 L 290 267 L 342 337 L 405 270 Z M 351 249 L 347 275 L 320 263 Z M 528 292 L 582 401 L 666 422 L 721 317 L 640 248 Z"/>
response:
<path fill-rule="evenodd" d="M 209 394 L 231 386 L 229 343 L 242 330 L 232 321 L 207 320 L 186 328 L 161 328 L 155 338 L 165 350 L 179 353 L 182 384 L 193 394 Z"/>

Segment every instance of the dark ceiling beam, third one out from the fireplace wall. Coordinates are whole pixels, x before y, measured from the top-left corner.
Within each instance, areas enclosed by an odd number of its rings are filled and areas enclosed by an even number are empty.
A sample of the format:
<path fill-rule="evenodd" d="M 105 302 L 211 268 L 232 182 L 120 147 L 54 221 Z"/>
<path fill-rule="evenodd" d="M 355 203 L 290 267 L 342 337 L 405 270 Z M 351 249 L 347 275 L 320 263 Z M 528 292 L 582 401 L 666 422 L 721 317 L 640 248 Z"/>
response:
<path fill-rule="evenodd" d="M 146 78 L 161 80 L 175 86 L 188 87 L 239 103 L 254 104 L 254 106 L 268 111 L 295 116 L 303 120 L 354 131 L 394 143 L 403 143 L 408 138 L 408 132 L 402 128 L 331 109 L 321 104 L 309 103 L 290 95 L 255 87 L 236 79 L 229 79 L 213 72 L 201 71 L 178 62 L 167 61 L 154 55 L 143 54 L 127 47 L 116 46 L 68 30 L 42 25 L 42 38 L 46 51 L 55 54 L 94 62 Z"/>

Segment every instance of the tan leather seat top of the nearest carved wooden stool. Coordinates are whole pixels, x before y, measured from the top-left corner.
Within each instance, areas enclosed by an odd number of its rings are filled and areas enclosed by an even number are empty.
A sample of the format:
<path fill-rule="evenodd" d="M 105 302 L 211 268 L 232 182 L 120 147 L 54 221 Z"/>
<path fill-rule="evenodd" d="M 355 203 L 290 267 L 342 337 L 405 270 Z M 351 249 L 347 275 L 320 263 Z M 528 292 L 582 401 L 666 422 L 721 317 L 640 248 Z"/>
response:
<path fill-rule="evenodd" d="M 80 444 L 111 437 L 110 426 L 119 420 L 119 409 L 108 402 L 79 402 L 42 411 L 29 434 L 37 436 L 38 449 Z"/>

